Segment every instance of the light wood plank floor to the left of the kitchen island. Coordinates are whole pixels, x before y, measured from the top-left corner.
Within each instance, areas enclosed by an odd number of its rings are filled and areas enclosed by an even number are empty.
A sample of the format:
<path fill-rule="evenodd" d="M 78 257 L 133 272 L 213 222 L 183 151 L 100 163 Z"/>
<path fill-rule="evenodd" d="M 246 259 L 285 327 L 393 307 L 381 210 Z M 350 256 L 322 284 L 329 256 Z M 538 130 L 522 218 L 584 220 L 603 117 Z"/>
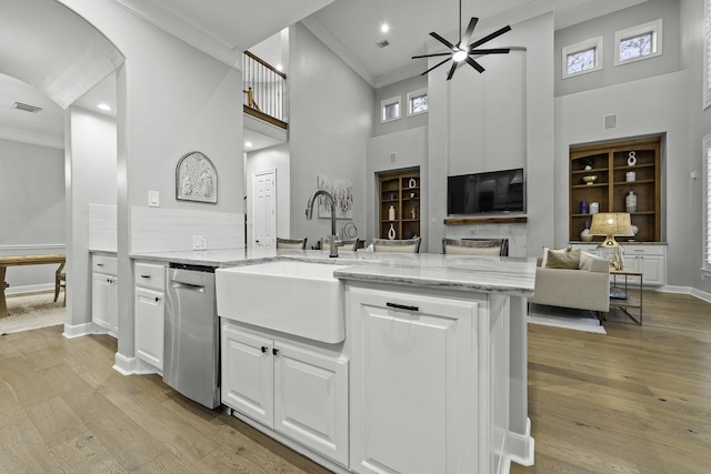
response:
<path fill-rule="evenodd" d="M 0 336 L 0 473 L 329 473 L 156 375 L 111 367 L 107 335 Z"/>

